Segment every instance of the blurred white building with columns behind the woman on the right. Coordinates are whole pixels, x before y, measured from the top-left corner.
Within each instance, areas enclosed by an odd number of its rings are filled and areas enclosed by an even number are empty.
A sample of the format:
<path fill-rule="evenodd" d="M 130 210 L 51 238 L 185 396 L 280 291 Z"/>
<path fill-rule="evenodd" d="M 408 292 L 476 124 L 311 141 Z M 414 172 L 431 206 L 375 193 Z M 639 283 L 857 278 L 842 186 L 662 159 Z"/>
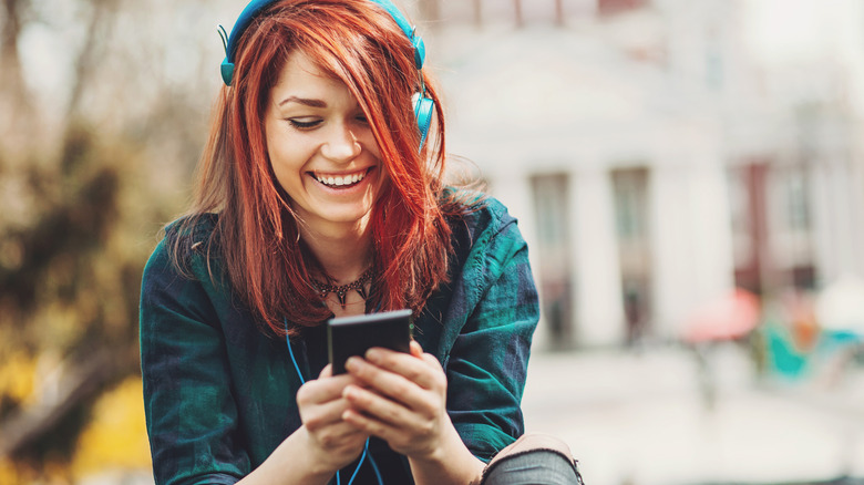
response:
<path fill-rule="evenodd" d="M 776 9 L 808 3 L 821 49 L 754 50 L 754 6 L 786 18 Z M 770 298 L 864 272 L 864 4 L 416 7 L 449 152 L 476 164 L 531 245 L 539 347 L 675 340 L 736 286 Z"/>

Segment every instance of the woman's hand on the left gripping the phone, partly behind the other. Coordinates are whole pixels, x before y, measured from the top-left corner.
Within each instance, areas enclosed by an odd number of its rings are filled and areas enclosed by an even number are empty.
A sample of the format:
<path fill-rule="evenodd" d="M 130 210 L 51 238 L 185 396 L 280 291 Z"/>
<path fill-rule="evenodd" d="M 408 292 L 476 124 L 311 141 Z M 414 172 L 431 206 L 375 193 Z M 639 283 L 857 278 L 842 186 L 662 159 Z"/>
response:
<path fill-rule="evenodd" d="M 348 385 L 354 385 L 349 374 L 332 375 L 327 365 L 315 381 L 309 381 L 297 391 L 297 406 L 309 441 L 311 452 L 320 465 L 337 469 L 354 461 L 363 450 L 368 433 L 342 420 L 348 401 L 342 393 Z"/>

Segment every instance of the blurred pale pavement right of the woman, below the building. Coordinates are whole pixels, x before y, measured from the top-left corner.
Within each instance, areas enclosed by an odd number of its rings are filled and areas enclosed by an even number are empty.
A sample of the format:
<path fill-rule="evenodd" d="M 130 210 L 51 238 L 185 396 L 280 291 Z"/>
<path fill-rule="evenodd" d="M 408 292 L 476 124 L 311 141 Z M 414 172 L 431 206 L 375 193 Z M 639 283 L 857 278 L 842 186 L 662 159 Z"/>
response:
<path fill-rule="evenodd" d="M 759 378 L 732 344 L 706 362 L 676 345 L 534 352 L 526 431 L 564 440 L 587 485 L 864 484 L 861 362 L 794 380 Z"/>

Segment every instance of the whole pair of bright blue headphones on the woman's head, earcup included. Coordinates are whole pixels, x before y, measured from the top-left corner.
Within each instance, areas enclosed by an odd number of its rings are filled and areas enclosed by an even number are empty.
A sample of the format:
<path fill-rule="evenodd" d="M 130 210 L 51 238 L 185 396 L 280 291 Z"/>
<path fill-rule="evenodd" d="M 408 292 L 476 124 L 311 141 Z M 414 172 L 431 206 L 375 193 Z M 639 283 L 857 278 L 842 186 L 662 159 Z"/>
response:
<path fill-rule="evenodd" d="M 225 85 L 232 85 L 232 78 L 234 76 L 234 61 L 237 54 L 237 41 L 243 35 L 243 32 L 251 24 L 253 19 L 260 13 L 266 7 L 275 3 L 278 0 L 253 0 L 249 4 L 243 9 L 240 17 L 237 18 L 237 22 L 232 28 L 230 35 L 227 35 L 225 28 L 219 25 L 219 35 L 225 47 L 225 60 L 222 61 L 222 80 Z M 423 43 L 423 39 L 420 35 L 415 35 L 415 28 L 409 23 L 408 19 L 399 11 L 399 9 L 390 0 L 369 0 L 372 3 L 378 4 L 384 9 L 390 17 L 397 22 L 405 37 L 411 41 L 414 47 L 414 65 L 416 66 L 418 74 L 420 76 L 420 91 L 414 93 L 414 116 L 416 117 L 416 124 L 420 128 L 420 147 L 423 147 L 423 143 L 429 134 L 429 127 L 432 124 L 432 112 L 434 111 L 435 103 L 432 99 L 426 96 L 426 87 L 423 82 L 423 61 L 426 56 L 426 48 Z"/>

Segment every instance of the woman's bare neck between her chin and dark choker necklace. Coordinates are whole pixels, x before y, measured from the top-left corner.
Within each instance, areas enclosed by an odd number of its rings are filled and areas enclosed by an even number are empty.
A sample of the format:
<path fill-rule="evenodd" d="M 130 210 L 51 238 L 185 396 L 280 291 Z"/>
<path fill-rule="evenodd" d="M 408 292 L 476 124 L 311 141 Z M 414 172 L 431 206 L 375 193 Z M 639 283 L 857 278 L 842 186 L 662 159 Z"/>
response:
<path fill-rule="evenodd" d="M 301 236 L 336 285 L 357 280 L 372 262 L 372 237 L 368 225 L 330 227 L 315 230 L 306 227 Z"/>

